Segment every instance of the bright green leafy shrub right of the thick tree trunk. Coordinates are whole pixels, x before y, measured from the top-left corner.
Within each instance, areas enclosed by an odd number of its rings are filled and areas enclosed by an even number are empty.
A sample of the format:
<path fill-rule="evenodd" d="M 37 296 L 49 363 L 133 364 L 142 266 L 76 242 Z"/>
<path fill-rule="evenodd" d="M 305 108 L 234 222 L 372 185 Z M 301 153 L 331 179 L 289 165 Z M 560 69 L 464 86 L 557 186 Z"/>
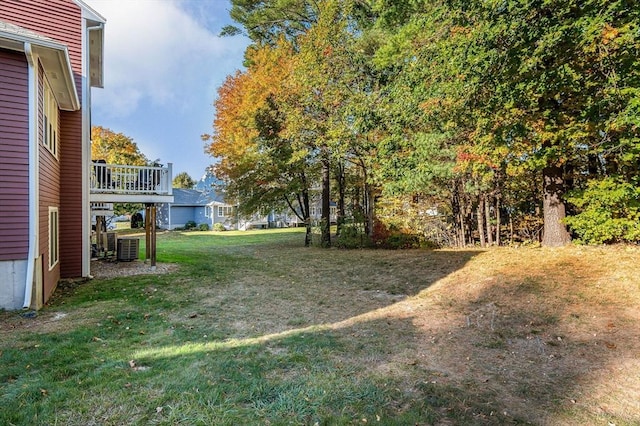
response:
<path fill-rule="evenodd" d="M 640 188 L 613 177 L 594 180 L 567 200 L 579 213 L 565 223 L 584 244 L 640 241 Z"/>

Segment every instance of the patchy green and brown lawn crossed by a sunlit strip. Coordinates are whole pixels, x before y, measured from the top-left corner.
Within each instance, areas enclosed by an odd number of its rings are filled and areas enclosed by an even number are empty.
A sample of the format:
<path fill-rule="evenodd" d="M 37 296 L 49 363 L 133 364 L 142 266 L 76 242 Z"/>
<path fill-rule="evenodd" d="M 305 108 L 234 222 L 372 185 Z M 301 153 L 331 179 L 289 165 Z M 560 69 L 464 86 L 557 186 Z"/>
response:
<path fill-rule="evenodd" d="M 638 250 L 323 250 L 302 232 L 162 234 L 176 272 L 0 312 L 0 424 L 640 420 Z"/>

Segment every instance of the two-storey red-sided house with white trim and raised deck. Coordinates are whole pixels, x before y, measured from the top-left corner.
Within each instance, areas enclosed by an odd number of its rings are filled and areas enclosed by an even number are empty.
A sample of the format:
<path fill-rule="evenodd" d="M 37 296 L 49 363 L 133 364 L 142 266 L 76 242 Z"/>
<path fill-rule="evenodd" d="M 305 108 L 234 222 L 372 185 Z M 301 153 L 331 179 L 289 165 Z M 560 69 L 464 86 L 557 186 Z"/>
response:
<path fill-rule="evenodd" d="M 104 24 L 80 0 L 0 1 L 0 309 L 38 308 L 61 278 L 90 276 L 92 202 L 152 203 L 171 182 L 170 167 L 122 166 L 163 183 L 98 185 L 90 105 Z"/>

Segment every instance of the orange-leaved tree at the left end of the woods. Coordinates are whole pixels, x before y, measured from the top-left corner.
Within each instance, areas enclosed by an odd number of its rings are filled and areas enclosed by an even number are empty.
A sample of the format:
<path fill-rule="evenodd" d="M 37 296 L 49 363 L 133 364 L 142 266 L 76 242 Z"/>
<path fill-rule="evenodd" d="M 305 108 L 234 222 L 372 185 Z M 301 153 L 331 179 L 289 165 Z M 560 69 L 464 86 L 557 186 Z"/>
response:
<path fill-rule="evenodd" d="M 218 91 L 216 118 L 208 151 L 219 162 L 216 175 L 239 211 L 291 208 L 306 223 L 305 244 L 311 242 L 309 194 L 314 168 L 308 151 L 283 134 L 281 90 L 291 67 L 292 47 L 253 46 L 245 72 L 228 77 Z M 290 87 L 290 86 L 289 86 Z"/>

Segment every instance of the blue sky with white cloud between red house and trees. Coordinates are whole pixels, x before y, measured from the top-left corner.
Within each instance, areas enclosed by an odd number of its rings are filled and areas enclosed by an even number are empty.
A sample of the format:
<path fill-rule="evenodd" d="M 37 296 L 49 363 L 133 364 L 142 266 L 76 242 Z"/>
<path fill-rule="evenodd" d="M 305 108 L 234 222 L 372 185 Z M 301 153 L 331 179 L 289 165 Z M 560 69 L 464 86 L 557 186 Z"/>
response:
<path fill-rule="evenodd" d="M 92 123 L 124 133 L 174 176 L 199 179 L 213 158 L 216 89 L 242 68 L 249 41 L 218 37 L 228 0 L 84 0 L 106 20 L 104 88 L 92 91 Z"/>

